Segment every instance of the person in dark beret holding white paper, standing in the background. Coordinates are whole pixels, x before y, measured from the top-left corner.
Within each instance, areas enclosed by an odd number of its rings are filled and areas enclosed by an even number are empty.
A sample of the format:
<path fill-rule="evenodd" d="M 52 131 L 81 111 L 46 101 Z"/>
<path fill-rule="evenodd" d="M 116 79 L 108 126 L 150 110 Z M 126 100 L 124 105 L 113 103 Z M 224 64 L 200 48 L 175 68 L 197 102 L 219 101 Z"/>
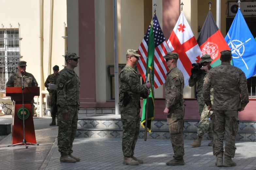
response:
<path fill-rule="evenodd" d="M 50 74 L 46 81 L 44 82 L 44 86 L 47 88 L 47 91 L 49 92 L 49 104 L 51 106 L 51 116 L 52 116 L 52 122 L 50 123 L 50 126 L 56 125 L 56 114 L 57 114 L 57 91 L 56 90 L 50 90 L 49 85 L 54 84 L 56 85 L 56 74 L 59 72 L 59 66 L 53 67 L 53 74 Z M 58 125 L 58 124 L 57 124 Z"/>

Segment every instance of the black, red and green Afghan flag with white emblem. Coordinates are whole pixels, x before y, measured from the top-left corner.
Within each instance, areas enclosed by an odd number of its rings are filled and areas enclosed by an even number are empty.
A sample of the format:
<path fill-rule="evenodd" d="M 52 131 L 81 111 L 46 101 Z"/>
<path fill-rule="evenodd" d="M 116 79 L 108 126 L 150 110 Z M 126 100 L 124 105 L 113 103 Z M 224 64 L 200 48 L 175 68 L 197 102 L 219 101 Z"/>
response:
<path fill-rule="evenodd" d="M 230 50 L 230 47 L 213 19 L 211 10 L 209 10 L 204 21 L 197 42 L 203 55 L 211 55 L 213 59 L 212 67 L 220 65 L 219 57 L 222 50 Z"/>

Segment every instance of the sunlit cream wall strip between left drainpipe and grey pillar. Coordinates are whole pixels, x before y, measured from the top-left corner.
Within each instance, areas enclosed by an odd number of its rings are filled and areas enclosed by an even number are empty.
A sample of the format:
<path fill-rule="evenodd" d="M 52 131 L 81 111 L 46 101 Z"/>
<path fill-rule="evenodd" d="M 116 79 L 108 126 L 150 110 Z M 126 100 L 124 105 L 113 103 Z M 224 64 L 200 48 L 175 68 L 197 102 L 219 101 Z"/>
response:
<path fill-rule="evenodd" d="M 58 65 L 59 70 L 62 70 L 65 65 L 65 59 L 62 55 L 65 53 L 64 39 L 62 36 L 65 36 L 64 32 L 64 22 L 67 23 L 67 4 L 66 0 L 53 0 L 53 38 L 52 38 L 52 58 L 50 60 L 49 74 L 53 73 L 53 66 Z M 48 77 L 48 59 L 49 59 L 49 43 L 50 43 L 50 5 L 51 1 L 44 1 L 43 8 L 43 84 L 46 78 Z M 67 26 L 67 24 L 66 24 Z M 42 88 L 43 89 L 43 88 Z"/>

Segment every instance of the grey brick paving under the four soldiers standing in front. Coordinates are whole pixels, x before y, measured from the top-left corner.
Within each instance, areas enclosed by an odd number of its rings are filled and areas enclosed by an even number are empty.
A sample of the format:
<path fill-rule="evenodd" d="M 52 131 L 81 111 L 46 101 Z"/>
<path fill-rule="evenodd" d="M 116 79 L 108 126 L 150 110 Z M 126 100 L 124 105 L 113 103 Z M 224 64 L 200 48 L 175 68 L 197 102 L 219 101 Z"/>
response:
<path fill-rule="evenodd" d="M 237 152 L 234 161 L 235 167 L 215 166 L 216 157 L 212 154 L 212 147 L 203 141 L 202 146 L 191 147 L 192 140 L 185 140 L 185 155 L 183 166 L 166 166 L 166 162 L 172 159 L 173 151 L 169 140 L 164 139 L 138 139 L 135 156 L 144 160 L 140 165 L 123 165 L 121 139 L 104 138 L 76 138 L 73 143 L 73 155 L 81 158 L 76 163 L 59 162 L 60 154 L 56 147 L 51 156 L 46 170 L 73 169 L 73 170 L 124 170 L 124 169 L 184 169 L 184 170 L 225 170 L 225 169 L 256 169 L 256 143 L 237 142 Z M 54 148 L 53 148 L 54 149 Z"/>

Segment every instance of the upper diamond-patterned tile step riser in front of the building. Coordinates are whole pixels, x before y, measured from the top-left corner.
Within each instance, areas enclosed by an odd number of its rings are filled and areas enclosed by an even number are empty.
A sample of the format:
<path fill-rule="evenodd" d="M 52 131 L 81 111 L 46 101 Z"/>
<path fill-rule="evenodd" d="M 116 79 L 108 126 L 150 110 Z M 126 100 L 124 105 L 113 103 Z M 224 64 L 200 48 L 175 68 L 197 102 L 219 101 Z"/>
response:
<path fill-rule="evenodd" d="M 185 120 L 184 130 L 196 130 L 199 120 Z M 121 128 L 120 118 L 79 118 L 77 128 Z M 143 128 L 140 126 L 140 128 Z M 153 119 L 152 129 L 168 129 L 166 119 Z M 240 131 L 256 131 L 256 121 L 240 121 Z"/>

